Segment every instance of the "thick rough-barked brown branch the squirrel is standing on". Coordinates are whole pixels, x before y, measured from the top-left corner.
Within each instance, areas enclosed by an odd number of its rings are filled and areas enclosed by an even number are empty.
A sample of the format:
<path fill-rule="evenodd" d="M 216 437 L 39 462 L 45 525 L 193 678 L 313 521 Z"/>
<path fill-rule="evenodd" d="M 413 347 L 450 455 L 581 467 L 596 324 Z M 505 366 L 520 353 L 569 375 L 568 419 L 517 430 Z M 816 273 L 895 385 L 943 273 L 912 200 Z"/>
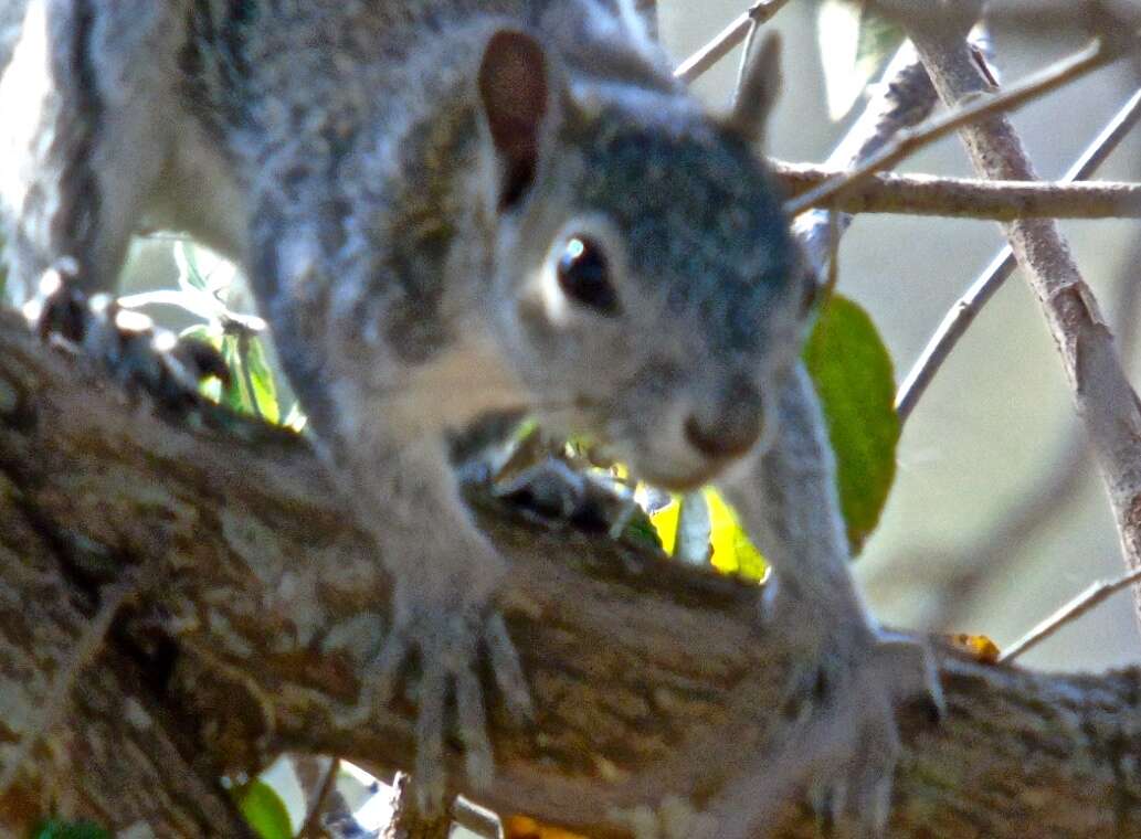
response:
<path fill-rule="evenodd" d="M 786 724 L 782 626 L 815 619 L 798 603 L 759 629 L 755 587 L 477 505 L 511 559 L 537 719 L 494 711 L 500 776 L 460 791 L 622 836 L 646 807 L 699 805 Z M 346 722 L 389 589 L 301 440 L 156 417 L 0 317 L 0 775 L 32 758 L 0 833 L 54 808 L 243 836 L 222 773 L 282 750 L 407 767 L 408 702 Z M 1141 673 L 940 666 L 949 717 L 905 719 L 892 836 L 1141 837 Z M 777 832 L 815 830 L 790 805 Z"/>

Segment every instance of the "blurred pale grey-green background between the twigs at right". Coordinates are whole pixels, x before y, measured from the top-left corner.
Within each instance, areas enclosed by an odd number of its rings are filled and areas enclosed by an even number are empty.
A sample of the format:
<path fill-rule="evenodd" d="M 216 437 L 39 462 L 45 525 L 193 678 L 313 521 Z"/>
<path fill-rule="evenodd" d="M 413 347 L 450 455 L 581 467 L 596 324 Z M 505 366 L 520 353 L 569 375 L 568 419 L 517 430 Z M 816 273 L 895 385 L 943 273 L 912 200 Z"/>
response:
<path fill-rule="evenodd" d="M 746 3 L 659 0 L 658 6 L 663 43 L 680 60 Z M 769 153 L 786 161 L 824 161 L 861 104 L 840 123 L 828 117 L 816 3 L 791 2 L 769 25 L 784 40 L 784 91 Z M 1061 13 L 1011 16 L 992 34 L 1005 83 L 1087 41 Z M 725 107 L 738 62 L 739 50 L 695 83 L 711 107 Z M 1014 125 L 1039 174 L 1060 177 L 1138 83 L 1132 66 L 1119 63 L 1017 112 Z M 972 176 L 957 138 L 916 154 L 900 171 Z M 1126 139 L 1099 177 L 1141 178 L 1141 131 Z M 1123 284 L 1139 282 L 1141 225 L 1077 221 L 1063 222 L 1062 229 L 1115 332 L 1123 320 L 1135 321 L 1139 312 L 1118 311 L 1118 301 L 1125 296 Z M 988 221 L 857 217 L 841 245 L 839 291 L 875 319 L 897 378 L 1002 244 L 998 227 Z M 1131 370 L 1138 369 L 1135 360 L 1128 363 Z M 896 486 L 857 569 L 884 621 L 984 633 L 1000 646 L 1094 580 L 1124 572 L 1109 504 L 1060 358 L 1020 272 L 978 317 L 906 424 Z M 942 596 L 964 569 L 977 569 L 973 585 Z M 1115 595 L 1023 661 L 1070 670 L 1141 661 L 1134 614 L 1130 594 Z"/>

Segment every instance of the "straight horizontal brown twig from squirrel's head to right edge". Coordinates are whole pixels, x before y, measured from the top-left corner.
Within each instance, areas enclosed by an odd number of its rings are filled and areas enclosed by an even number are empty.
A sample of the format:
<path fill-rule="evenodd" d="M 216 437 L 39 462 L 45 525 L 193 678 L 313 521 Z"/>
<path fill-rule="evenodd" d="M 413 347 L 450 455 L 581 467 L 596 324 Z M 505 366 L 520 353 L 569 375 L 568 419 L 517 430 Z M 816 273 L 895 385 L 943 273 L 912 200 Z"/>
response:
<path fill-rule="evenodd" d="M 772 161 L 785 194 L 814 189 L 839 170 Z M 841 212 L 944 215 L 964 219 L 1136 219 L 1141 184 L 1094 181 L 995 181 L 930 174 L 877 172 L 859 187 L 832 198 Z"/>

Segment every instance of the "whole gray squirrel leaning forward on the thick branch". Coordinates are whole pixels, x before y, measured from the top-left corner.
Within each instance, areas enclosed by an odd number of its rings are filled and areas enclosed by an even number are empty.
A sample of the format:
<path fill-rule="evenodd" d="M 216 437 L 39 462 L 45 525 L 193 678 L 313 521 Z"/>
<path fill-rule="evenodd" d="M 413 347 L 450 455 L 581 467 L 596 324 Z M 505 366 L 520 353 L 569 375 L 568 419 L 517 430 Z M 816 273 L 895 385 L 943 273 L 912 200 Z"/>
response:
<path fill-rule="evenodd" d="M 505 563 L 446 442 L 525 409 L 652 483 L 725 488 L 820 616 L 800 693 L 847 722 L 802 763 L 844 823 L 882 825 L 895 704 L 938 689 L 844 567 L 798 363 L 811 282 L 759 129 L 704 114 L 629 0 L 0 0 L 5 24 L 9 282 L 31 294 L 66 264 L 71 292 L 107 292 L 141 227 L 244 268 L 396 581 L 371 693 L 419 660 L 426 809 L 450 790 L 448 738 L 474 784 L 493 771 L 482 667 L 528 712 Z M 755 829 L 710 811 L 718 836 Z"/>

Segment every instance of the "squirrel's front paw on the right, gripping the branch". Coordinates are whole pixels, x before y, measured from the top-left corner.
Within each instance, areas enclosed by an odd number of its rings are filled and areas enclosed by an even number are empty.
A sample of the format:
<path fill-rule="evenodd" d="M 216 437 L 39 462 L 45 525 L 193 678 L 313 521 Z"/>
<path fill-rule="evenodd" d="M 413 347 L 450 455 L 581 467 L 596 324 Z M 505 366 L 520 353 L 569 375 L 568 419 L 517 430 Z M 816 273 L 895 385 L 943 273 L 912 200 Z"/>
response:
<path fill-rule="evenodd" d="M 883 836 L 900 743 L 897 710 L 917 706 L 936 722 L 942 693 L 929 650 L 905 636 L 873 633 L 840 644 L 803 674 L 818 746 L 808 797 L 827 836 Z"/>

